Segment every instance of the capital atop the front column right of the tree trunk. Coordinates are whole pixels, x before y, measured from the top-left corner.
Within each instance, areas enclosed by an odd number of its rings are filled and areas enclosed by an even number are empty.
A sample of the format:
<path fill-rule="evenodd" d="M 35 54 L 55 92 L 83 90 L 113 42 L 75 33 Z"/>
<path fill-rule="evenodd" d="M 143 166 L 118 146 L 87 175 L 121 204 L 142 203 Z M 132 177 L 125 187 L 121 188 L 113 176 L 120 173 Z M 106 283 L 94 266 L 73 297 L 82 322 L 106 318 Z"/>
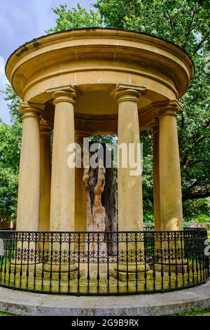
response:
<path fill-rule="evenodd" d="M 122 101 L 138 102 L 141 94 L 145 91 L 145 89 L 146 86 L 117 84 L 116 88 L 111 92 L 111 96 L 116 98 L 118 103 Z"/>

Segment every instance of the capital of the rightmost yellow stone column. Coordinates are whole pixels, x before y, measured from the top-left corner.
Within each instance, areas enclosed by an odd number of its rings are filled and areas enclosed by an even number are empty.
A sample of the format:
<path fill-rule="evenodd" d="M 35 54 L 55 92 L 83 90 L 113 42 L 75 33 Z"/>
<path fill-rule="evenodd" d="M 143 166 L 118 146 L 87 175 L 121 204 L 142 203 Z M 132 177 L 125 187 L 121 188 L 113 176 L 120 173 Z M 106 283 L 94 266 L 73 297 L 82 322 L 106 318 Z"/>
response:
<path fill-rule="evenodd" d="M 158 118 L 162 116 L 174 116 L 182 109 L 178 100 L 169 100 L 162 103 L 153 103 L 155 114 Z"/>

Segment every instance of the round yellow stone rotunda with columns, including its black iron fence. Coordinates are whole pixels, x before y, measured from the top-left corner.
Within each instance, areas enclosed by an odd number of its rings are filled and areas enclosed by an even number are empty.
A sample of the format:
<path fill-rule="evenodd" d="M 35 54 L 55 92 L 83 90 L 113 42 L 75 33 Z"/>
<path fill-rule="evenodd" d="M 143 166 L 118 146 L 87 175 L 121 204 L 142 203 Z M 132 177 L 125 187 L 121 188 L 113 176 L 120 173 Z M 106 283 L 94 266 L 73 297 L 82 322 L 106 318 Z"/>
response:
<path fill-rule="evenodd" d="M 10 55 L 6 76 L 22 98 L 22 147 L 17 231 L 0 232 L 0 285 L 126 294 L 209 277 L 207 232 L 183 229 L 176 114 L 193 74 L 192 60 L 178 46 L 119 29 L 50 34 Z M 68 146 L 107 134 L 118 145 L 137 146 L 149 128 L 155 230 L 143 227 L 141 175 L 119 161 L 118 227 L 90 232 L 84 169 L 68 166 Z M 100 198 L 97 203 L 100 208 Z M 111 243 L 115 249 L 104 249 Z"/>

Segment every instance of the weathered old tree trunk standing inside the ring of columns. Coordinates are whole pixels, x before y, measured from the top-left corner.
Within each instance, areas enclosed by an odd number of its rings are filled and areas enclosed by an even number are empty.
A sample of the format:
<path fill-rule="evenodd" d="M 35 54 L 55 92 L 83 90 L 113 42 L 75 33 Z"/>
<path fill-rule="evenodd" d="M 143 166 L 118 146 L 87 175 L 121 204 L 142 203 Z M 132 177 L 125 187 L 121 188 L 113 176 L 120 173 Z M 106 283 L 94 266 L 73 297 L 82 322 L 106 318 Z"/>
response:
<path fill-rule="evenodd" d="M 113 176 L 113 169 L 104 169 L 102 160 L 99 167 L 85 169 L 83 183 L 85 185 L 87 202 L 87 232 L 107 232 L 117 230 L 116 221 L 116 182 Z M 116 251 L 113 235 L 91 234 L 90 242 L 86 244 L 85 250 L 109 251 L 109 254 Z M 100 241 L 97 244 L 97 241 Z M 115 239 L 116 240 L 116 239 Z M 107 243 L 106 243 L 107 242 Z"/>

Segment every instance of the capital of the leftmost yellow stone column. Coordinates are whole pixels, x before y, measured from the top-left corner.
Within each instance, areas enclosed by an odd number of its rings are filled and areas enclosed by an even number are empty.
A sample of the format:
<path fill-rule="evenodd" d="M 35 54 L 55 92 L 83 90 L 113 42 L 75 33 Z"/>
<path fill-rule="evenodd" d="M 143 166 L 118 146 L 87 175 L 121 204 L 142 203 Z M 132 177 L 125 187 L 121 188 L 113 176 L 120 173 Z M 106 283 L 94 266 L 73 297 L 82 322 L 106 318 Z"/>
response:
<path fill-rule="evenodd" d="M 26 118 L 36 118 L 40 120 L 40 115 L 44 107 L 45 105 L 43 104 L 21 102 L 19 106 L 19 112 L 22 114 L 22 120 Z"/>

